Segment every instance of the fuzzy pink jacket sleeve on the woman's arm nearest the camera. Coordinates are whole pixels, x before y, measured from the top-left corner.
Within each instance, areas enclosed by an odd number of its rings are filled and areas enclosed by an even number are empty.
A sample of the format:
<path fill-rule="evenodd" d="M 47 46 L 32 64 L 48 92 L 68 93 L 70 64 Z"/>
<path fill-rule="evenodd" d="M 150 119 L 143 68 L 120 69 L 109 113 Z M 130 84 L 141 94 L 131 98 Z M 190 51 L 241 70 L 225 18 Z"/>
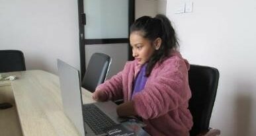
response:
<path fill-rule="evenodd" d="M 134 109 L 144 119 L 157 118 L 179 108 L 191 97 L 187 67 L 182 59 L 166 62 L 144 90 L 134 96 Z M 171 64 L 171 65 L 170 65 Z"/>

